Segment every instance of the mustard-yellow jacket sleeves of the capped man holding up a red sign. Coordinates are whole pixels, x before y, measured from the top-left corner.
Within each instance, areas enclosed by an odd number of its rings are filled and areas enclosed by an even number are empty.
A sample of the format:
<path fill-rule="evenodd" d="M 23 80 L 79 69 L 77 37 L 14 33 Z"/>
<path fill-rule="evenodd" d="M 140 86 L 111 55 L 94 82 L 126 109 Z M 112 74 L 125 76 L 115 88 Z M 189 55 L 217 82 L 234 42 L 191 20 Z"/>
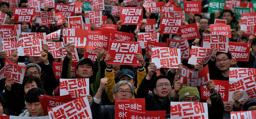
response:
<path fill-rule="evenodd" d="M 140 72 L 139 70 L 137 70 L 137 89 L 135 89 L 135 93 L 137 94 L 137 90 L 140 86 L 141 81 L 144 79 L 144 77 L 146 76 L 146 70 L 144 68 L 144 70 L 142 72 Z M 116 85 L 115 83 L 115 75 L 114 72 L 112 70 L 112 72 L 107 72 L 105 70 L 105 77 L 108 77 L 108 85 L 106 87 L 106 93 L 108 94 L 108 98 L 111 102 L 114 101 L 113 98 L 113 87 Z"/>

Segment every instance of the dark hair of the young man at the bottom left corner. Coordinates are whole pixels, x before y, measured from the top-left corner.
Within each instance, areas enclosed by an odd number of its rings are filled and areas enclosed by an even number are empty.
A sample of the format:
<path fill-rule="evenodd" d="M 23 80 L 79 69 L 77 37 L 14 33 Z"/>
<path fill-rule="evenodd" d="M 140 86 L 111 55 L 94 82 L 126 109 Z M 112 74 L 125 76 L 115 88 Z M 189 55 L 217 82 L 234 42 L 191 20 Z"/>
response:
<path fill-rule="evenodd" d="M 28 103 L 40 102 L 38 96 L 46 94 L 46 91 L 41 88 L 32 88 L 28 91 L 25 96 L 25 100 Z"/>

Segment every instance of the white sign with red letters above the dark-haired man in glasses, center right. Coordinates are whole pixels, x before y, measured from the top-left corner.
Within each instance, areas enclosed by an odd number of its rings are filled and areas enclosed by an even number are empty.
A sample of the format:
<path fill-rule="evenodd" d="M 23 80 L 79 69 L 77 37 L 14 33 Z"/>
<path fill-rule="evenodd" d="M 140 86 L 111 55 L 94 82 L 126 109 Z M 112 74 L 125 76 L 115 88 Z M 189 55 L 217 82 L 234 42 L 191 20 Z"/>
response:
<path fill-rule="evenodd" d="M 157 68 L 178 68 L 180 49 L 172 47 L 151 48 L 151 59 Z"/>

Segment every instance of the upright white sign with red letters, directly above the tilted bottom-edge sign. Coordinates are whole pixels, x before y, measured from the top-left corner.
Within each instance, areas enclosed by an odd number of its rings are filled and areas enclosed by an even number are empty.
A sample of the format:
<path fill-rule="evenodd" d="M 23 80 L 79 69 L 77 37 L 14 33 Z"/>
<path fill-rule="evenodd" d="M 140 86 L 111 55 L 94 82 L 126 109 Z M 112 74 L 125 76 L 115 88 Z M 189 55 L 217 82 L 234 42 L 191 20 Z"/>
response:
<path fill-rule="evenodd" d="M 82 97 L 89 94 L 89 78 L 60 79 L 60 96 Z"/>

